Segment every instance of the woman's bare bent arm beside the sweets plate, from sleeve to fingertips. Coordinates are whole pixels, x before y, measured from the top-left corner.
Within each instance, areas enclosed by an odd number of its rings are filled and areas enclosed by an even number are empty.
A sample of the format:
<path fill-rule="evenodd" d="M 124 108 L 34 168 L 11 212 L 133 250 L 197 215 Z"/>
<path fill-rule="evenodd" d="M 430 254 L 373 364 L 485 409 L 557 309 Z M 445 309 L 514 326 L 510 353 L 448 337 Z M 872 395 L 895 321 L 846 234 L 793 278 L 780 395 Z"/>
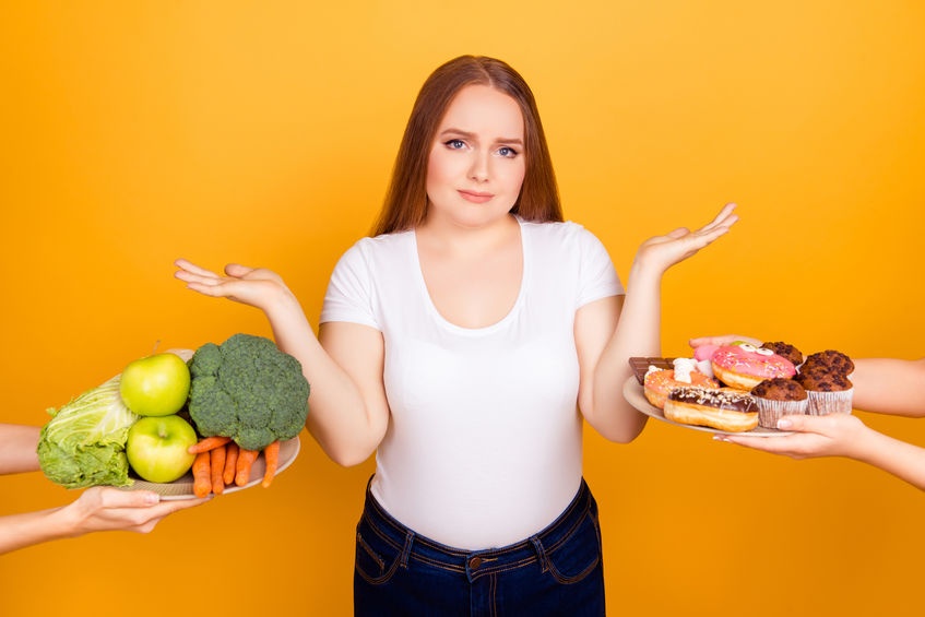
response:
<path fill-rule="evenodd" d="M 622 385 L 631 375 L 630 357 L 661 354 L 662 276 L 726 234 L 738 221 L 734 209 L 735 204 L 726 204 L 713 221 L 695 232 L 679 228 L 645 240 L 636 253 L 622 301 L 605 298 L 576 315 L 579 407 L 606 439 L 626 443 L 645 427 L 647 416 L 626 401 Z"/>

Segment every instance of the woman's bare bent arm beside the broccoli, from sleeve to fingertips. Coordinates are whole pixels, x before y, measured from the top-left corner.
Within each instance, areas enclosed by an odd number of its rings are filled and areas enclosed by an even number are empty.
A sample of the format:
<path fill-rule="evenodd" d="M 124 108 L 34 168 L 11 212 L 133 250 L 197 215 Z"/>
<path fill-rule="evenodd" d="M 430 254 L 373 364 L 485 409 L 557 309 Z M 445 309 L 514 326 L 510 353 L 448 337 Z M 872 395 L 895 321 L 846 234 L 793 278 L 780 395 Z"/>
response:
<path fill-rule="evenodd" d="M 229 264 L 222 276 L 187 260 L 176 265 L 177 278 L 190 289 L 266 315 L 276 345 L 301 363 L 311 387 L 306 426 L 334 462 L 359 464 L 376 451 L 389 424 L 381 332 L 334 322 L 322 324 L 316 337 L 298 299 L 277 274 Z"/>

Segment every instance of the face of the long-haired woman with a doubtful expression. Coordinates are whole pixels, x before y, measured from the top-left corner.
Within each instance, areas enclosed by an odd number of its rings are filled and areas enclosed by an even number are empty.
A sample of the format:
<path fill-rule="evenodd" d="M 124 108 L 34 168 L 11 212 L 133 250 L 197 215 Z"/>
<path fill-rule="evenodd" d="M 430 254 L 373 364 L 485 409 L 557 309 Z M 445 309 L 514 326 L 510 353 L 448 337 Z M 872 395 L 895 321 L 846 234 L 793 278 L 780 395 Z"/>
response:
<path fill-rule="evenodd" d="M 450 103 L 427 164 L 428 222 L 478 227 L 507 215 L 526 168 L 523 115 L 507 94 L 470 85 Z"/>

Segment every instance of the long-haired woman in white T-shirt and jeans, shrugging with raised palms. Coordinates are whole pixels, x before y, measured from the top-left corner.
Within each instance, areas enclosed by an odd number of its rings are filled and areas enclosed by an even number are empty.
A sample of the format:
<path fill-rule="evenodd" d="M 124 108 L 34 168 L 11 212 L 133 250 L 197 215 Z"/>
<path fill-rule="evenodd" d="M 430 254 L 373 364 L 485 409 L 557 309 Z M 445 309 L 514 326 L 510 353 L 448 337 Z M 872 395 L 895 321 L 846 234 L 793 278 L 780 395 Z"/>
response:
<path fill-rule="evenodd" d="M 178 260 L 176 275 L 266 313 L 331 459 L 376 452 L 357 615 L 603 615 L 582 418 L 619 442 L 643 429 L 620 394 L 627 358 L 657 355 L 662 274 L 732 210 L 647 240 L 624 299 L 601 242 L 562 222 L 529 86 L 465 56 L 422 87 L 376 234 L 339 262 L 318 339 L 275 273 Z"/>

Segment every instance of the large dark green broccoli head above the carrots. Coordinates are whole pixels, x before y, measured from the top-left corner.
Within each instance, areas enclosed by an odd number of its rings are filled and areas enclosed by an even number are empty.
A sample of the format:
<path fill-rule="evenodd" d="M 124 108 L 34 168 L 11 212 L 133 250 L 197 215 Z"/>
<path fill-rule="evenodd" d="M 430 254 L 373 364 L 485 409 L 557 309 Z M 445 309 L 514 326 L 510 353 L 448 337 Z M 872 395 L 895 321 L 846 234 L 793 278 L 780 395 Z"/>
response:
<path fill-rule="evenodd" d="M 263 336 L 206 343 L 189 363 L 189 414 L 203 437 L 230 437 L 247 450 L 292 439 L 308 415 L 301 364 Z"/>

